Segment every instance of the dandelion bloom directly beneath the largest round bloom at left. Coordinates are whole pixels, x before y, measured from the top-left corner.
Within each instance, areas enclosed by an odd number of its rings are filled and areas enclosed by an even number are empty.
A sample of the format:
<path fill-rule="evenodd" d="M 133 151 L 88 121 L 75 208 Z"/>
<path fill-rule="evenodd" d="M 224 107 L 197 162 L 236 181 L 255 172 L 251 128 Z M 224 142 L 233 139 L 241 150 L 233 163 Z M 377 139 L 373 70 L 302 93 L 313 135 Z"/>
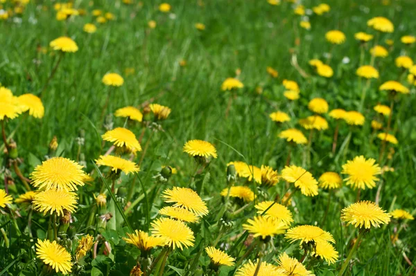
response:
<path fill-rule="evenodd" d="M 44 215 L 47 213 L 63 216 L 64 210 L 74 212 L 76 210 L 76 194 L 64 190 L 46 190 L 38 192 L 33 199 L 33 208 Z"/>

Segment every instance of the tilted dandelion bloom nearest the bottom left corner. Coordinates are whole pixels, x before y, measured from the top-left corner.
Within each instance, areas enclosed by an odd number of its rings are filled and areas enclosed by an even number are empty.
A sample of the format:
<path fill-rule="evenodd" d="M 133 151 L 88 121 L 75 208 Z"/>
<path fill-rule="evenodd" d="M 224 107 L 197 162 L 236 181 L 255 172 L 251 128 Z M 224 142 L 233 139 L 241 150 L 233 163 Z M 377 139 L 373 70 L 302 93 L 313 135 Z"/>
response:
<path fill-rule="evenodd" d="M 61 272 L 63 275 L 71 273 L 71 254 L 56 241 L 37 239 L 36 255 L 56 273 Z"/>

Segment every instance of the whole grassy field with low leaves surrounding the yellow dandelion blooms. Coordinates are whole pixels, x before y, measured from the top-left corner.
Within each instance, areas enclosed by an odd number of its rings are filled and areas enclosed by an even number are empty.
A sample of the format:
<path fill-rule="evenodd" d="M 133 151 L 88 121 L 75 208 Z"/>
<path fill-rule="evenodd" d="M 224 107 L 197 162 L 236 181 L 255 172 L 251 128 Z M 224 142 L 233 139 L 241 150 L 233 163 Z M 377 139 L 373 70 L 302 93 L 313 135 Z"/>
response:
<path fill-rule="evenodd" d="M 3 12 L 19 6 L 14 2 L 0 3 Z M 126 232 L 136 229 L 150 233 L 150 223 L 161 217 L 159 209 L 169 205 L 160 194 L 173 186 L 196 190 L 207 203 L 209 214 L 200 223 L 189 224 L 195 237 L 194 246 L 173 250 L 164 264 L 164 271 L 157 266 L 153 275 L 157 275 L 156 270 L 161 275 L 215 275 L 204 249 L 214 243 L 216 248 L 235 257 L 236 263 L 241 259 L 239 265 L 261 257 L 262 261 L 277 266 L 279 255 L 286 252 L 297 260 L 302 259 L 303 265 L 315 275 L 339 275 L 359 232 L 340 219 L 341 210 L 357 199 L 357 190 L 351 186 L 344 183 L 332 192 L 320 188 L 317 196 L 296 192 L 288 205 L 294 220 L 291 228 L 319 226 L 333 235 L 336 241 L 333 246 L 339 257 L 332 264 L 310 254 L 302 258 L 304 248 L 300 248 L 299 243 L 289 243 L 284 234 L 276 235 L 264 248 L 248 252 L 252 241 L 244 240 L 247 236 L 243 234 L 242 224 L 256 214 L 255 204 L 264 200 L 283 203 L 281 197 L 288 187 L 295 192 L 293 185 L 288 185 L 284 179 L 277 185 L 264 187 L 238 178 L 235 185 L 250 187 L 257 196 L 248 204 L 220 196 L 230 185 L 227 181 L 229 162 L 239 160 L 257 167 L 268 165 L 280 174 L 287 165 L 289 150 L 290 164 L 303 167 L 316 179 L 324 172 L 341 174 L 343 165 L 355 156 L 374 158 L 380 167 L 387 166 L 390 171 L 378 176 L 380 180 L 373 189 L 361 190 L 360 199 L 377 201 L 388 212 L 404 209 L 413 215 L 416 213 L 415 88 L 407 81 L 408 68 L 395 65 L 400 55 L 413 58 L 416 53 L 415 44 L 401 43 L 404 35 L 415 35 L 414 3 L 332 0 L 326 2 L 331 7 L 329 12 L 316 15 L 311 8 L 320 2 L 301 2 L 299 4 L 306 9 L 304 16 L 293 12 L 297 4 L 284 0 L 277 6 L 266 0 L 171 0 L 168 1 L 169 12 L 159 10 L 162 1 L 133 0 L 130 5 L 119 0 L 73 1 L 73 8 L 83 9 L 86 14 L 58 21 L 55 1 L 31 0 L 21 4 L 21 14 L 0 19 L 1 86 L 16 96 L 37 95 L 44 105 L 42 119 L 26 112 L 13 120 L 6 117 L 3 120 L 6 136 L 17 143 L 19 170 L 31 178 L 35 167 L 46 158 L 63 156 L 84 165 L 84 171 L 94 178 L 76 191 L 78 209 L 72 213 L 70 223 L 76 237 L 69 234 L 58 237 L 59 243 L 72 256 L 73 275 L 128 275 L 137 260 L 146 262 L 143 252 L 126 244 L 122 238 L 126 237 Z M 114 20 L 97 23 L 96 16 L 92 15 L 96 9 L 111 12 Z M 395 31 L 381 33 L 370 28 L 367 21 L 373 17 L 390 19 Z M 155 28 L 148 25 L 151 20 L 156 22 Z M 300 27 L 302 20 L 310 21 L 311 30 Z M 87 23 L 96 25 L 96 33 L 83 31 Z M 205 30 L 198 30 L 197 23 L 204 24 Z M 327 42 L 325 34 L 329 30 L 341 30 L 346 36 L 345 43 Z M 374 39 L 360 44 L 354 34 L 361 31 L 374 35 Z M 71 37 L 78 51 L 53 50 L 49 43 L 61 36 Z M 392 39 L 394 44 L 386 44 L 386 39 Z M 374 59 L 379 78 L 367 82 L 356 75 L 356 69 L 372 63 L 369 50 L 376 44 L 384 46 L 388 56 Z M 59 64 L 51 77 L 58 59 Z M 317 75 L 309 65 L 311 59 L 329 64 L 333 76 Z M 275 68 L 279 76 L 269 75 L 268 66 Z M 105 86 L 101 80 L 109 72 L 123 76 L 124 84 Z M 221 84 L 227 77 L 236 77 L 244 87 L 222 91 Z M 287 89 L 282 85 L 283 80 L 299 84 L 299 100 L 290 101 L 284 97 Z M 398 93 L 392 100 L 387 91 L 379 90 L 388 80 L 401 82 L 410 93 Z M 324 98 L 329 111 L 359 110 L 365 86 L 368 87 L 367 96 L 361 110 L 365 123 L 349 126 L 339 122 L 335 152 L 331 149 L 338 122 L 328 113 L 321 115 L 329 124 L 324 131 L 309 131 L 300 126 L 300 119 L 313 115 L 308 109 L 313 98 Z M 380 117 L 373 109 L 376 104 L 390 106 L 392 101 L 395 104 L 387 131 L 395 135 L 397 145 L 377 138 L 377 134 L 386 131 L 388 116 Z M 168 118 L 158 122 L 160 131 L 146 127 L 145 122 L 112 116 L 116 109 L 126 106 L 135 106 L 144 112 L 151 103 L 171 108 Z M 288 113 L 291 120 L 283 124 L 273 122 L 269 114 L 275 111 Z M 150 115 L 145 115 L 145 120 L 151 120 Z M 382 118 L 384 130 L 372 129 L 374 118 Z M 131 156 L 140 165 L 140 172 L 121 174 L 116 181 L 115 197 L 105 188 L 105 180 L 94 166 L 94 160 L 111 146 L 110 142 L 103 142 L 101 135 L 114 127 L 130 129 L 143 148 L 137 156 Z M 279 138 L 279 133 L 288 128 L 300 129 L 311 143 L 289 145 Z M 49 143 L 54 136 L 58 139 L 58 149 L 51 154 Z M 198 166 L 196 160 L 182 150 L 184 144 L 193 139 L 211 142 L 218 158 L 211 158 L 205 167 Z M 3 152 L 3 143 L 0 147 L 0 176 L 5 183 L 13 179 L 8 183 L 8 192 L 17 199 L 27 189 L 10 165 L 15 158 Z M 123 157 L 130 158 L 128 154 Z M 154 177 L 163 166 L 177 169 L 177 174 L 168 178 L 167 183 L 159 183 Z M 99 169 L 107 175 L 108 168 Z M 345 174 L 342 177 L 345 178 Z M 112 181 L 105 182 L 111 185 Z M 33 185 L 30 187 L 35 190 Z M 5 185 L 0 184 L 0 188 L 4 189 Z M 107 195 L 107 209 L 104 208 L 102 214 L 113 215 L 104 229 L 99 224 L 101 211 L 97 211 L 94 199 L 100 193 Z M 123 217 L 118 206 L 124 210 Z M 240 208 L 243 210 L 235 213 Z M 0 212 L 3 230 L 0 275 L 53 274 L 35 254 L 37 239 L 49 239 L 49 214 L 33 212 L 31 205 L 15 202 L 0 208 Z M 31 228 L 27 227 L 29 219 Z M 388 225 L 372 228 L 363 237 L 344 275 L 415 275 L 415 227 L 414 220 L 392 219 Z M 93 256 L 93 248 L 82 262 L 77 261 L 78 237 L 87 233 L 96 241 L 97 256 Z M 106 246 L 112 248 L 111 253 Z M 153 249 L 149 259 L 155 261 L 163 250 L 163 247 Z M 233 275 L 238 269 L 221 266 L 218 275 Z"/>

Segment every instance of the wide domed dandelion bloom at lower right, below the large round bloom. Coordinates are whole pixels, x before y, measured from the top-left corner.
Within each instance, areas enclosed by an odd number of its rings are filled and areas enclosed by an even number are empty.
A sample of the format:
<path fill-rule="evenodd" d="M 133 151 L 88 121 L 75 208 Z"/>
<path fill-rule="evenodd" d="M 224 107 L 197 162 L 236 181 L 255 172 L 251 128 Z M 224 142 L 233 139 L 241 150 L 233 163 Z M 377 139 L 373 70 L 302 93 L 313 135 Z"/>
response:
<path fill-rule="evenodd" d="M 341 219 L 355 228 L 380 227 L 380 224 L 389 223 L 391 217 L 372 201 L 358 201 L 341 212 Z"/>

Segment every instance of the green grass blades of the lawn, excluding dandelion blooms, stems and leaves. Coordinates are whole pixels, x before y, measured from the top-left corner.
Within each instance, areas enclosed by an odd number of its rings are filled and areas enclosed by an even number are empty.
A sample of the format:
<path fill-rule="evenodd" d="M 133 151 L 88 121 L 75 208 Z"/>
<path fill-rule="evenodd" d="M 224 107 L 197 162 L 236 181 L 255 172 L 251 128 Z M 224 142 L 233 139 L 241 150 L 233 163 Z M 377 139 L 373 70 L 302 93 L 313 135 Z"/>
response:
<path fill-rule="evenodd" d="M 164 131 L 159 131 L 153 136 L 141 165 L 139 177 L 144 188 L 138 179 L 134 181 L 135 194 L 132 201 L 143 195 L 144 189 L 153 185 L 152 176 L 159 172 L 162 165 L 171 165 L 178 169 L 178 174 L 173 175 L 164 187 L 190 185 L 196 165 L 191 157 L 182 152 L 187 140 L 207 140 L 215 145 L 218 158 L 211 161 L 202 176 L 196 177 L 198 185 L 205 177 L 200 194 L 207 201 L 210 214 L 198 226 L 193 227 L 196 246 L 182 252 L 177 251 L 168 259 L 168 265 L 182 271 L 182 275 L 198 275 L 209 263 L 207 255 L 201 250 L 202 245 L 209 246 L 218 235 L 219 229 L 215 219 L 223 205 L 219 192 L 227 187 L 227 163 L 243 160 L 243 155 L 248 163 L 258 167 L 270 165 L 280 172 L 285 165 L 288 149 L 286 142 L 277 138 L 277 134 L 288 126 L 301 129 L 297 120 L 311 115 L 311 111 L 307 109 L 309 100 L 322 97 L 329 102 L 330 109 L 358 109 L 361 91 L 358 90 L 355 71 L 359 66 L 360 48 L 354 39 L 354 33 L 374 33 L 367 28 L 367 20 L 374 16 L 384 16 L 395 24 L 395 33 L 382 34 L 379 43 L 386 46 L 385 39 L 394 39 L 395 45 L 389 49 L 388 57 L 376 59 L 380 78 L 372 81 L 367 92 L 363 111 L 365 125 L 354 127 L 352 130 L 352 140 L 345 156 L 338 151 L 333 155 L 331 145 L 335 122 L 325 115 L 329 129 L 319 134 L 315 132 L 311 165 L 307 166 L 304 160 L 306 146 L 293 149 L 291 163 L 304 166 L 318 178 L 323 172 L 341 172 L 341 166 L 345 161 L 354 156 L 364 155 L 366 158 L 378 159 L 381 142 L 370 127 L 370 121 L 376 115 L 372 107 L 379 102 L 389 104 L 387 93 L 379 91 L 378 87 L 387 80 L 399 79 L 401 71 L 395 66 L 395 57 L 404 50 L 410 57 L 415 56 L 414 46 L 406 48 L 400 43 L 401 36 L 413 34 L 416 28 L 416 21 L 413 19 L 415 7 L 411 1 L 393 1 L 390 6 L 382 6 L 376 1 L 327 1 L 331 11 L 322 17 L 311 15 L 310 31 L 299 27 L 300 18 L 293 15 L 291 4 L 286 2 L 280 6 L 270 6 L 266 1 L 216 0 L 204 1 L 204 6 L 198 6 L 198 1 L 172 0 L 169 3 L 173 7 L 175 19 L 157 10 L 162 1 L 144 1 L 142 7 L 137 4 L 124 6 L 120 1 L 115 2 L 114 4 L 111 1 L 95 1 L 94 6 L 90 7 L 88 1 L 76 1 L 77 7 L 79 5 L 79 8 L 85 8 L 88 15 L 75 17 L 65 23 L 55 20 L 52 3 L 31 1 L 21 17 L 21 24 L 13 23 L 12 19 L 0 21 L 0 29 L 3 30 L 0 36 L 0 83 L 11 89 L 15 95 L 39 95 L 55 64 L 55 53 L 51 50 L 46 54 L 38 53 L 37 46 L 47 48 L 51 40 L 64 35 L 65 32 L 79 46 L 77 53 L 65 54 L 56 75 L 42 96 L 44 118 L 37 120 L 27 114 L 22 115 L 8 122 L 6 132 L 11 134 L 15 131 L 13 139 L 17 142 L 19 157 L 23 160 L 20 168 L 25 176 L 29 176 L 34 167 L 48 154 L 48 145 L 53 136 L 57 136 L 60 144 L 58 154 L 76 160 L 76 138 L 80 131 L 85 131 L 85 144 L 81 147 L 81 153 L 85 156 L 87 172 L 91 172 L 94 170 L 92 160 L 110 147 L 107 143 L 102 148 L 101 138 L 98 139 L 98 135 L 101 136 L 105 132 L 100 115 L 107 93 L 110 93 L 107 113 L 113 113 L 116 109 L 128 105 L 142 107 L 141 104 L 148 100 L 171 107 L 171 115 L 161 124 Z M 42 4 L 47 10 L 40 8 Z M 317 4 L 318 1 L 304 1 L 307 8 Z M 89 35 L 83 32 L 83 25 L 94 20 L 90 15 L 94 8 L 114 13 L 116 20 L 99 26 L 97 24 L 98 31 Z M 366 10 L 368 12 L 365 12 Z M 33 19 L 36 19 L 37 24 L 31 23 Z M 157 21 L 157 27 L 153 30 L 147 26 L 151 19 Z M 197 22 L 204 23 L 207 29 L 203 32 L 196 30 L 194 24 Z M 331 48 L 325 41 L 324 34 L 332 29 L 342 30 L 347 36 L 347 42 L 334 47 L 330 63 L 334 76 L 325 80 L 315 76 L 308 61 L 312 58 L 324 60 L 324 53 L 328 53 Z M 313 76 L 311 78 L 303 78 L 291 65 L 291 50 L 295 49 L 297 38 L 300 39 L 300 46 L 296 48 L 297 60 L 300 66 Z M 370 46 L 372 42 L 368 48 Z M 350 62 L 344 64 L 343 57 L 349 57 Z M 182 59 L 187 61 L 187 66 L 180 66 Z M 364 64 L 369 63 L 370 54 L 366 51 Z M 269 77 L 266 66 L 276 68 L 279 77 Z M 130 67 L 135 68 L 135 73 L 125 75 L 125 68 Z M 239 78 L 245 84 L 245 88 L 238 92 L 229 116 L 225 118 L 229 94 L 220 91 L 220 85 L 226 77 L 234 77 L 237 68 L 241 68 Z M 105 87 L 101 78 L 109 71 L 123 75 L 125 84 L 116 89 Z M 289 103 L 284 98 L 284 87 L 281 85 L 284 79 L 295 80 L 300 84 L 300 100 Z M 406 75 L 403 83 L 406 83 Z M 263 88 L 261 94 L 256 92 L 257 86 Z M 395 104 L 392 129 L 399 145 L 393 147 L 395 154 L 392 158 L 381 164 L 394 167 L 395 172 L 383 174 L 377 184 L 379 187 L 380 183 L 383 183 L 380 205 L 385 210 L 404 208 L 415 214 L 415 104 L 414 88 L 411 89 L 410 95 L 400 95 Z M 268 118 L 268 114 L 276 110 L 286 111 L 291 115 L 292 120 L 288 126 L 279 127 Z M 112 120 L 114 127 L 125 125 L 121 118 Z M 385 124 L 386 122 L 385 120 Z M 141 125 L 129 122 L 127 127 L 137 136 L 141 134 Z M 348 133 L 349 127 L 342 123 L 338 149 Z M 304 131 L 304 134 L 308 136 L 309 132 Z M 150 131 L 146 131 L 142 147 L 149 135 Z M 370 140 L 373 142 L 370 143 Z M 6 165 L 6 156 L 0 158 L 3 158 L 2 164 Z M 138 162 L 139 158 L 140 153 L 135 160 Z M 105 169 L 103 171 L 105 172 Z M 3 171 L 0 171 L 0 175 L 3 178 Z M 24 186 L 14 173 L 12 176 L 16 183 L 12 189 L 15 198 L 24 192 Z M 102 186 L 98 174 L 95 173 L 94 177 L 94 185 L 86 185 L 78 191 L 80 205 L 78 212 L 73 214 L 76 218 L 73 225 L 76 226 L 78 234 L 86 232 L 85 223 L 94 203 L 92 194 L 98 194 Z M 134 178 L 134 175 L 123 176 L 121 186 L 130 188 Z M 239 183 L 243 185 L 244 181 L 239 179 Z M 248 185 L 253 187 L 252 183 Z M 3 184 L 0 187 L 3 188 Z M 146 230 L 149 219 L 155 219 L 157 210 L 164 206 L 159 199 L 159 193 L 164 187 L 158 186 L 150 191 L 144 201 L 128 214 L 127 218 L 133 229 Z M 273 199 L 284 190 L 284 182 L 281 181 L 267 193 L 269 198 Z M 361 199 L 374 201 L 376 190 L 374 188 L 362 191 Z M 295 206 L 291 207 L 295 219 L 293 225 L 316 223 L 333 234 L 336 249 L 340 255 L 343 253 L 336 264 L 313 266 L 311 269 L 315 275 L 336 275 L 342 264 L 341 260 L 345 259 L 351 248 L 350 242 L 356 237 L 356 231 L 352 226 L 346 227 L 340 222 L 340 210 L 355 201 L 356 193 L 350 187 L 343 187 L 336 192 L 327 222 L 322 225 L 327 195 L 327 192 L 322 190 L 313 198 L 297 193 L 294 196 Z M 110 196 L 107 196 L 107 199 L 110 199 Z M 121 203 L 123 206 L 125 204 L 126 202 Z M 27 214 L 25 210 L 21 212 L 23 216 L 17 218 L 17 224 L 24 232 Z M 253 215 L 254 208 L 248 208 L 238 217 L 227 218 L 234 226 L 227 229 L 218 245 L 230 243 L 232 246 L 229 238 L 241 234 L 241 224 Z M 6 216 L 1 215 L 0 225 L 7 221 Z M 47 226 L 47 217 L 40 213 L 33 214 L 33 237 L 44 237 Z M 19 259 L 8 268 L 10 275 L 40 273 L 41 263 L 39 260 L 35 261 L 35 251 L 28 246 L 33 245 L 36 240 L 28 237 L 27 232 L 17 237 L 12 223 L 4 228 L 10 235 L 11 246 L 6 248 L 3 238 L 0 238 L 0 271 L 15 259 Z M 408 228 L 401 231 L 400 241 L 395 245 L 390 242 L 393 228 L 393 225 L 389 225 L 386 228 L 372 229 L 363 239 L 354 257 L 351 275 L 414 275 L 415 266 L 407 264 L 402 252 L 406 252 L 411 261 L 416 261 L 412 259 L 416 255 L 416 234 L 413 232 L 415 222 L 408 222 Z M 92 258 L 89 257 L 83 271 L 85 274 L 82 275 L 99 275 L 91 271 L 96 269 L 101 270 L 103 275 L 107 275 L 105 271 L 110 275 L 128 275 L 135 265 L 139 251 L 132 250 L 132 246 L 125 247 L 125 242 L 121 240 L 121 237 L 125 237 L 124 232 L 128 232 L 125 223 L 118 225 L 117 232 L 107 231 L 103 234 L 107 240 L 113 238 L 111 243 L 114 256 L 110 256 L 109 259 L 101 255 L 93 264 Z M 283 250 L 300 259 L 299 248 L 283 241 L 281 237 L 277 237 L 275 245 L 274 255 L 268 255 L 270 261 L 271 257 L 277 258 Z M 244 251 L 245 248 L 239 255 L 243 255 Z M 155 252 L 155 256 L 157 252 L 159 250 Z M 230 254 L 237 257 L 235 251 Z M 255 255 L 251 255 L 250 259 L 255 259 Z M 116 274 L 116 271 L 119 271 L 119 274 Z M 227 275 L 226 271 L 221 275 Z M 166 266 L 165 274 L 175 275 L 174 269 Z"/>

